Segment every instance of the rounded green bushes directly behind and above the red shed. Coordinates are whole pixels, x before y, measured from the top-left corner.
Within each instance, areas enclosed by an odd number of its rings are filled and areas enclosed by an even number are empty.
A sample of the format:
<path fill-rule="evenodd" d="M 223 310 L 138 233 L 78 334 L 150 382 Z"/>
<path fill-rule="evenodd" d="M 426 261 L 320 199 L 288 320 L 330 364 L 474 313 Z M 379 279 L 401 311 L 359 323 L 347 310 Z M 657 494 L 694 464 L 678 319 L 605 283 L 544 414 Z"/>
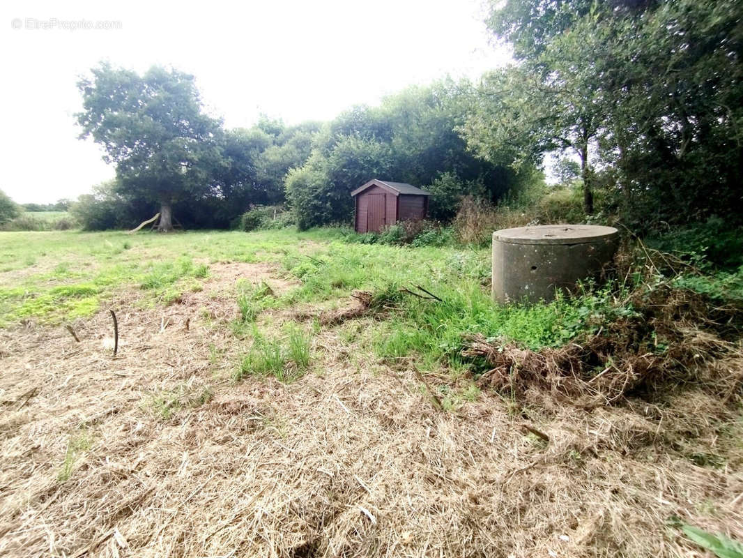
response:
<path fill-rule="evenodd" d="M 442 80 L 339 115 L 315 135 L 307 162 L 287 176 L 287 200 L 299 229 L 348 222 L 351 191 L 373 178 L 419 186 L 438 181 L 441 202 L 434 211 L 442 218 L 452 216 L 447 204 L 455 211 L 462 193 L 477 190 L 494 200 L 515 187 L 515 173 L 476 158 L 459 136 L 468 102 L 458 84 Z M 457 193 L 459 187 L 465 191 Z"/>

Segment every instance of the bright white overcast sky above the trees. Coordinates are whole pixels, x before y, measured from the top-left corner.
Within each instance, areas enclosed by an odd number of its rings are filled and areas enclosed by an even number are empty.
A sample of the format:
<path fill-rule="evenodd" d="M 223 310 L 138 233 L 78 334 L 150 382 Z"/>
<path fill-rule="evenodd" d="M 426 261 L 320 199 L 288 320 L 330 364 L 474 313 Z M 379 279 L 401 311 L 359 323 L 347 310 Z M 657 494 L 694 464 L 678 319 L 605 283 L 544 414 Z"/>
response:
<path fill-rule="evenodd" d="M 227 127 L 261 113 L 287 124 L 330 120 L 412 84 L 506 63 L 481 2 L 4 0 L 0 190 L 46 203 L 114 176 L 74 124 L 77 80 L 102 60 L 194 74 L 207 112 Z"/>

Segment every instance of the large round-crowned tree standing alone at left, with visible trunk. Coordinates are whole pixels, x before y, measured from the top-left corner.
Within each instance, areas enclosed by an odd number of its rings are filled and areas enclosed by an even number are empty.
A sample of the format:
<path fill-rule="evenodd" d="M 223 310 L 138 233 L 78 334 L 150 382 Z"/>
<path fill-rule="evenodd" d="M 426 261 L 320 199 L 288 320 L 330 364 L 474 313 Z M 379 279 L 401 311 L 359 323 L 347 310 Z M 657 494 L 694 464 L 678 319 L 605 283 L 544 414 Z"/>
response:
<path fill-rule="evenodd" d="M 204 114 L 193 76 L 103 63 L 78 89 L 80 137 L 103 145 L 121 193 L 160 204 L 159 231 L 172 231 L 175 202 L 213 193 L 215 170 L 224 166 L 221 123 Z"/>

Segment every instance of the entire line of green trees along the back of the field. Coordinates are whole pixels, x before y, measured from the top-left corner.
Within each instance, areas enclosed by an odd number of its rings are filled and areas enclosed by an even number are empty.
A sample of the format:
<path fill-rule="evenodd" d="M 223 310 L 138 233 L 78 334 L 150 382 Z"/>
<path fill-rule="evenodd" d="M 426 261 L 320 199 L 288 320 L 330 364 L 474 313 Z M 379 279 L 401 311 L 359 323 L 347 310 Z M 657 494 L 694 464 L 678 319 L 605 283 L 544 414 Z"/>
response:
<path fill-rule="evenodd" d="M 446 220 L 461 196 L 499 202 L 539 182 L 545 154 L 569 153 L 587 216 L 601 190 L 602 209 L 637 228 L 740 222 L 742 22 L 741 0 L 493 0 L 487 26 L 512 64 L 296 126 L 226 129 L 193 76 L 102 64 L 79 83 L 77 121 L 116 179 L 75 207 L 88 228 L 160 211 L 167 231 L 283 204 L 308 228 L 348 222 L 351 190 L 377 177 L 431 190 Z"/>

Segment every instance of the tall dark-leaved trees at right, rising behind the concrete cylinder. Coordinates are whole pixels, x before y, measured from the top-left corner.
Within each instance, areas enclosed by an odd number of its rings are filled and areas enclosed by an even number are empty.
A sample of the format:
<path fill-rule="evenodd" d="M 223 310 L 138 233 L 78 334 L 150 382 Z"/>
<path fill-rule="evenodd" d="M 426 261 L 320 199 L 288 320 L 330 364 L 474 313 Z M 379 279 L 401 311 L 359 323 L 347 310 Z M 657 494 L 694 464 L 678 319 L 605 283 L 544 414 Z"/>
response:
<path fill-rule="evenodd" d="M 741 0 L 491 0 L 516 62 L 484 77 L 470 147 L 512 164 L 573 149 L 626 221 L 743 213 Z M 617 194 L 615 196 L 615 194 Z"/>

